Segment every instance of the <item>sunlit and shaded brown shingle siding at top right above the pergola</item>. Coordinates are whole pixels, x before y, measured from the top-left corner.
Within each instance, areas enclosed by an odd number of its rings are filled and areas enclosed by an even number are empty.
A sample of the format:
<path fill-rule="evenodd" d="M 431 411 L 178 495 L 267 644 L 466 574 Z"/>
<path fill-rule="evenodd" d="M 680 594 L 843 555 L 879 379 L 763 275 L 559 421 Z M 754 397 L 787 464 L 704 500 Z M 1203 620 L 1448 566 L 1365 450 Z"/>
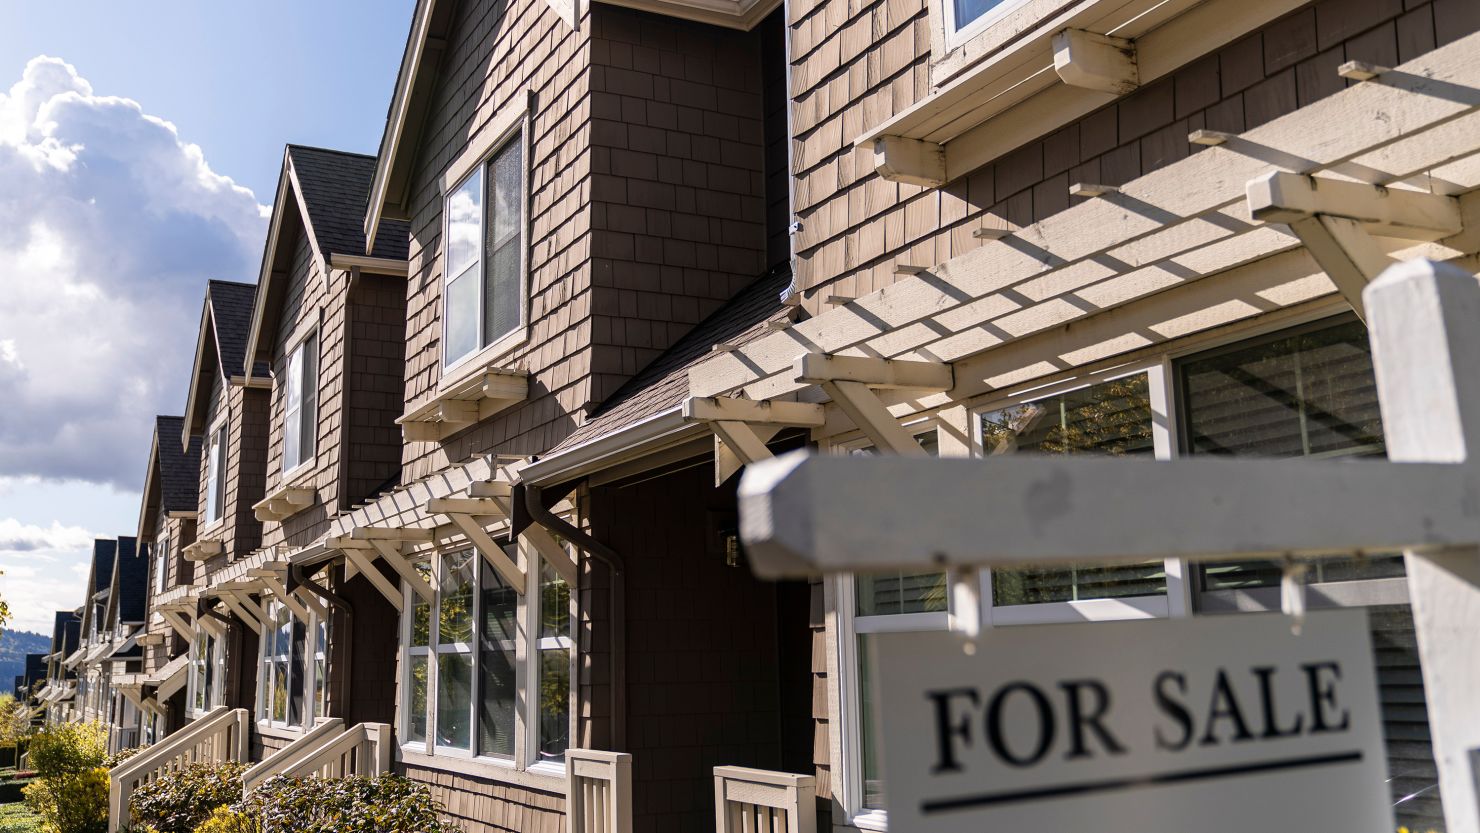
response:
<path fill-rule="evenodd" d="M 1474 0 L 1322 0 L 943 188 L 888 182 L 852 141 L 929 93 L 924 0 L 802 0 L 792 12 L 799 284 L 811 311 L 981 246 L 983 225 L 1067 209 L 1074 182 L 1120 185 L 1344 89 L 1345 61 L 1393 67 L 1480 30 Z M 989 219 L 992 215 L 998 219 Z M 826 287 L 826 289 L 824 289 Z"/>

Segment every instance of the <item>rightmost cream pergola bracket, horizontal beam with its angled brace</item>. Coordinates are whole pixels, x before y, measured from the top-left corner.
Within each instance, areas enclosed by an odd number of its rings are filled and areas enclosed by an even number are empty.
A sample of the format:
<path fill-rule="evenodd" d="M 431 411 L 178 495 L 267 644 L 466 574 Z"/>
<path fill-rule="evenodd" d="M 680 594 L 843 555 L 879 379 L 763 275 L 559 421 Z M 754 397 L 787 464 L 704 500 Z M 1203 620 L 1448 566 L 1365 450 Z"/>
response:
<path fill-rule="evenodd" d="M 1271 172 L 1246 192 L 1254 219 L 1289 225 L 1362 320 L 1362 290 L 1393 265 L 1372 235 L 1431 241 L 1464 229 L 1458 200 L 1422 191 Z"/>

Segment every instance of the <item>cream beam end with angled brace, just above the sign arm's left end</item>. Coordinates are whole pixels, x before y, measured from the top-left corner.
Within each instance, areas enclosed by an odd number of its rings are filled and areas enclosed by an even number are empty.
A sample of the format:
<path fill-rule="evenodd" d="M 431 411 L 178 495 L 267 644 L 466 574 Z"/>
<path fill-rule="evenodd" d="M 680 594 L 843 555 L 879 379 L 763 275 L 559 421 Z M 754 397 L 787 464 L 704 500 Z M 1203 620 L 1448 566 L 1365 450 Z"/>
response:
<path fill-rule="evenodd" d="M 796 358 L 792 370 L 798 382 L 821 385 L 876 448 L 913 457 L 925 456 L 925 448 L 884 407 L 875 389 L 949 391 L 955 386 L 952 367 L 934 361 L 805 354 Z"/>

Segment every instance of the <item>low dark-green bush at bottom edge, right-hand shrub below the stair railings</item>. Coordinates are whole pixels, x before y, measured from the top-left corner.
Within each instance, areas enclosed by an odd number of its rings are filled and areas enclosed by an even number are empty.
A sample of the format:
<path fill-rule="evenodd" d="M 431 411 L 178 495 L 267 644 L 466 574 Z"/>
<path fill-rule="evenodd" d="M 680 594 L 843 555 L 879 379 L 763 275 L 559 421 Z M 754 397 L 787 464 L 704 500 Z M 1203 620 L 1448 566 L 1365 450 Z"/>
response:
<path fill-rule="evenodd" d="M 269 778 L 240 811 L 272 833 L 462 833 L 438 817 L 426 784 L 376 778 Z"/>

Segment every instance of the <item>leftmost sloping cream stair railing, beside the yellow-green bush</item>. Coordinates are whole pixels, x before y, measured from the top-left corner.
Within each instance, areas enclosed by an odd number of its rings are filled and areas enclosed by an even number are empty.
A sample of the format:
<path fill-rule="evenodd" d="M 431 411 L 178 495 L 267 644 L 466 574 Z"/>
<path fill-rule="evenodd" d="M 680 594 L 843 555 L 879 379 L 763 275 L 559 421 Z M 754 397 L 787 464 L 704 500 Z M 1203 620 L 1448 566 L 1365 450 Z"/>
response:
<path fill-rule="evenodd" d="M 247 732 L 247 710 L 222 706 L 114 766 L 108 774 L 108 830 L 129 824 L 129 796 L 160 775 L 197 762 L 246 761 Z"/>

